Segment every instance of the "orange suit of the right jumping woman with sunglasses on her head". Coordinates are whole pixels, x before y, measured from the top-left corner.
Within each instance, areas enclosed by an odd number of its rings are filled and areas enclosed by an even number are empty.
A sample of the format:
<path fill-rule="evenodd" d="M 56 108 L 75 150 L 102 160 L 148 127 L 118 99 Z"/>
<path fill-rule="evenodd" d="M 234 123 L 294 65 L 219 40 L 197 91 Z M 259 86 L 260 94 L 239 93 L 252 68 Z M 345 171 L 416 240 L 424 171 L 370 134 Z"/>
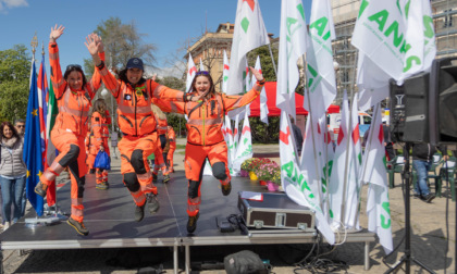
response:
<path fill-rule="evenodd" d="M 196 92 L 190 94 L 197 96 Z M 212 173 L 222 185 L 231 180 L 227 164 L 227 146 L 222 134 L 222 124 L 226 112 L 244 107 L 260 92 L 251 89 L 244 96 L 212 95 L 210 99 L 199 102 L 164 102 L 158 105 L 164 112 L 187 114 L 187 145 L 184 159 L 186 178 L 188 179 L 187 214 L 197 215 L 200 202 L 200 185 L 205 160 L 208 158 Z"/>

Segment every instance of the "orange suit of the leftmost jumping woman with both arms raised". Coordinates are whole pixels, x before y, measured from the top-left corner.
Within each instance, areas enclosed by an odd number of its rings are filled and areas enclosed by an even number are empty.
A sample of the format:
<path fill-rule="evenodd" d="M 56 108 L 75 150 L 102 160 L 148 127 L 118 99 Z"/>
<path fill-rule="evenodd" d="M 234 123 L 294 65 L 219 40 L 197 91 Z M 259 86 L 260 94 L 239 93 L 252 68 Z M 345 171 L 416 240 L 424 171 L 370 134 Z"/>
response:
<path fill-rule="evenodd" d="M 100 54 L 104 60 L 104 53 Z M 101 86 L 100 74 L 94 73 L 89 83 L 82 90 L 71 90 L 62 76 L 59 61 L 59 48 L 55 42 L 49 42 L 49 62 L 51 80 L 58 101 L 59 114 L 51 130 L 51 141 L 59 150 L 59 155 L 40 176 L 40 182 L 49 186 L 52 180 L 69 166 L 71 173 L 71 217 L 83 222 L 83 196 L 86 183 L 86 150 L 84 139 L 87 135 L 90 101 Z"/>

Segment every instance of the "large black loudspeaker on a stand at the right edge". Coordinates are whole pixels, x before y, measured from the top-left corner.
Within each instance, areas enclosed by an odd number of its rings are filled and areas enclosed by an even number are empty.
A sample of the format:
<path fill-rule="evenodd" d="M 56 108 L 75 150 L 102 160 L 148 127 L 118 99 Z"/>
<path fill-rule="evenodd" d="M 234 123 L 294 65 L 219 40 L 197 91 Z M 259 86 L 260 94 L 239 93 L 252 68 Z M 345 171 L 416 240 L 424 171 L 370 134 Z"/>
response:
<path fill-rule="evenodd" d="M 418 73 L 398 86 L 390 82 L 391 130 L 395 141 L 457 142 L 457 65 L 434 60 L 430 73 Z"/>

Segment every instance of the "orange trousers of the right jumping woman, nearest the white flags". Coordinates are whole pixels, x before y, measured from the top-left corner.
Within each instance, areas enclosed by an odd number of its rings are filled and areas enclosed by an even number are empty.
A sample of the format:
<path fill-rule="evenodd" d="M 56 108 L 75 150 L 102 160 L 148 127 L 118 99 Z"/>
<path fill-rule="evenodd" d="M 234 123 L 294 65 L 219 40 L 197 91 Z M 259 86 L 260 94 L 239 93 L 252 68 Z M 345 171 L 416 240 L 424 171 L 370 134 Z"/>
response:
<path fill-rule="evenodd" d="M 187 142 L 184 167 L 186 171 L 186 178 L 188 179 L 187 214 L 189 216 L 197 215 L 200 210 L 200 186 L 205 160 L 207 158 L 212 166 L 214 177 L 218 178 L 222 185 L 228 184 L 232 178 L 227 164 L 227 146 L 225 141 L 212 146 L 196 146 Z"/>

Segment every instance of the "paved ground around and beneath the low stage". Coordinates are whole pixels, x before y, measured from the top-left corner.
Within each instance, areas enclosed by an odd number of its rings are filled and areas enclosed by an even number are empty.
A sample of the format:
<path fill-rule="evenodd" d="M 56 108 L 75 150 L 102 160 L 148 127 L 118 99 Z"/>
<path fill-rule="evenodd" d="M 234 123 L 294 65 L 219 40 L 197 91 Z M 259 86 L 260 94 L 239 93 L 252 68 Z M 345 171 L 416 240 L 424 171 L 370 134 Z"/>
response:
<path fill-rule="evenodd" d="M 184 144 L 184 140 L 178 140 L 178 144 Z M 255 153 L 268 154 L 274 157 L 277 153 L 277 145 L 255 146 Z M 118 151 L 119 155 L 119 151 Z M 175 167 L 183 170 L 182 151 L 175 152 Z M 274 160 L 279 161 L 277 158 Z M 120 160 L 113 159 L 113 166 L 119 165 Z M 66 174 L 59 177 L 60 180 L 65 180 Z M 446 183 L 444 183 L 446 184 Z M 433 184 L 432 184 L 433 185 Z M 411 198 L 411 253 L 415 259 L 427 265 L 436 273 L 456 273 L 455 271 L 455 244 L 456 244 L 456 211 L 455 202 L 450 200 L 450 191 L 445 186 L 444 197 L 436 198 L 432 203 L 425 203 L 419 199 Z M 361 212 L 366 210 L 366 192 L 362 190 L 362 208 Z M 398 250 L 385 261 L 388 264 L 394 264 L 404 254 L 405 250 L 405 204 L 402 195 L 400 178 L 396 176 L 396 187 L 390 190 L 391 198 L 391 215 L 393 226 L 394 246 L 399 246 Z M 367 227 L 367 217 L 362 213 L 360 217 L 362 227 Z M 247 248 L 247 247 L 246 247 Z M 194 261 L 205 261 L 205 265 L 213 263 L 211 261 L 211 253 L 227 251 L 227 247 L 214 248 L 206 247 L 193 254 L 202 253 L 206 257 L 197 258 Z M 310 246 L 260 246 L 254 247 L 255 251 L 261 254 L 262 259 L 269 259 L 273 264 L 273 272 L 281 273 L 310 273 L 305 270 L 297 270 L 297 267 L 287 264 L 284 261 L 283 254 L 289 257 L 298 253 L 297 261 L 302 259 Z M 302 251 L 297 251 L 302 249 Z M 447 253 L 446 253 L 446 250 Z M 322 251 L 322 250 L 321 250 Z M 349 269 L 347 273 L 384 273 L 388 267 L 383 263 L 384 251 L 376 242 L 371 246 L 369 271 L 363 270 L 363 245 L 362 244 L 344 244 L 337 246 L 334 250 L 325 247 L 322 252 L 330 252 L 323 258 L 330 258 L 333 261 L 344 261 Z M 158 266 L 163 263 L 165 267 L 164 273 L 173 273 L 171 263 L 171 251 L 166 248 L 152 248 L 141 250 L 120 250 L 120 249 L 90 249 L 90 250 L 22 250 L 22 251 L 3 251 L 3 269 L 4 273 L 138 273 L 138 267 L 125 269 L 119 264 L 122 261 L 116 261 L 119 258 L 140 258 L 140 267 Z M 236 252 L 234 250 L 233 252 Z M 181 256 L 183 252 L 181 252 Z M 163 260 L 161 260 L 163 259 Z M 180 258 L 180 262 L 184 262 L 184 258 Z M 125 265 L 125 262 L 124 262 Z M 143 269 L 146 271 L 146 269 Z M 399 273 L 403 273 L 400 271 Z M 146 273 L 146 272 L 144 272 Z M 150 272 L 149 272 L 150 273 Z M 223 270 L 201 271 L 193 273 L 225 273 Z M 345 273 L 345 272 L 333 272 Z M 411 273 L 427 273 L 420 270 L 415 263 L 411 266 Z"/>

